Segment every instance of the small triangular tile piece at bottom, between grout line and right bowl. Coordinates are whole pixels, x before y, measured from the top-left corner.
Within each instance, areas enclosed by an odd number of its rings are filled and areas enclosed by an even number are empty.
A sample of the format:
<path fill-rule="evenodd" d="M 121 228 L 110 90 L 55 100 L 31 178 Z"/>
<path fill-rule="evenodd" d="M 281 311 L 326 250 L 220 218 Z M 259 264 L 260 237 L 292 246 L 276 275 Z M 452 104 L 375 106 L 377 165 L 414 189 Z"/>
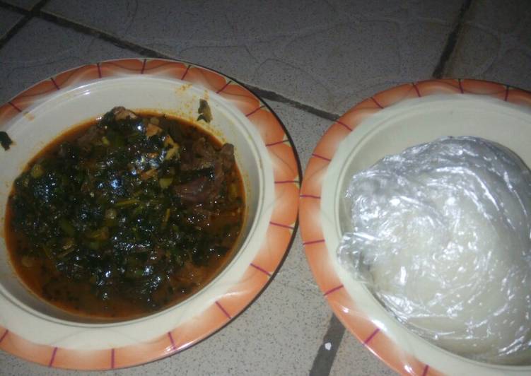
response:
<path fill-rule="evenodd" d="M 394 371 L 376 358 L 356 337 L 346 331 L 330 370 L 331 376 L 396 375 Z"/>

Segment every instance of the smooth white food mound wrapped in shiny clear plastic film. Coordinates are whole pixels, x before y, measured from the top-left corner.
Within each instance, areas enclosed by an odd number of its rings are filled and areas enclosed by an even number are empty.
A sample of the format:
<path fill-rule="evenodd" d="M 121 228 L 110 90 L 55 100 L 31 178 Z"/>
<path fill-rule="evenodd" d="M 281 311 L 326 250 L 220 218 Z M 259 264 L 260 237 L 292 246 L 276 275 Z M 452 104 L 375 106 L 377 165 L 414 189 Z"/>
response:
<path fill-rule="evenodd" d="M 419 336 L 531 364 L 531 174 L 507 148 L 443 138 L 351 178 L 342 265 Z"/>

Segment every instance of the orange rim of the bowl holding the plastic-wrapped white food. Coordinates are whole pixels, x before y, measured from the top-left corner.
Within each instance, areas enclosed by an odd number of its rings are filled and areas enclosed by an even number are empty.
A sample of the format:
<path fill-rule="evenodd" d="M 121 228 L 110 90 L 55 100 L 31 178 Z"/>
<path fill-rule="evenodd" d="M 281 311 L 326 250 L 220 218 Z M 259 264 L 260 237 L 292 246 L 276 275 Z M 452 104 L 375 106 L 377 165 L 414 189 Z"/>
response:
<path fill-rule="evenodd" d="M 327 129 L 308 161 L 300 189 L 300 232 L 307 261 L 318 286 L 346 329 L 354 334 L 375 356 L 402 374 L 437 375 L 441 372 L 419 360 L 411 349 L 406 350 L 399 343 L 393 341 L 387 335 L 385 325 L 370 317 L 363 310 L 363 307 L 358 307 L 356 298 L 342 283 L 342 279 L 335 269 L 335 260 L 331 256 L 334 252 L 329 252 L 327 249 L 327 233 L 325 232 L 325 225 L 323 225 L 326 216 L 322 210 L 322 203 L 327 200 L 322 199 L 322 189 L 325 187 L 324 182 L 327 179 L 329 165 L 334 160 L 334 156 L 337 155 L 342 141 L 366 119 L 405 100 L 431 95 L 456 95 L 456 98 L 459 98 L 457 95 L 462 94 L 484 95 L 489 99 L 496 98 L 500 102 L 510 102 L 514 105 L 524 106 L 527 110 L 531 109 L 531 93 L 491 81 L 433 79 L 406 83 L 384 90 L 351 107 Z M 444 350 L 441 349 L 441 351 Z M 452 355 L 455 356 L 455 354 Z M 465 360 L 460 356 L 455 357 Z M 485 365 L 487 363 L 466 360 L 474 366 L 481 367 L 478 370 L 482 368 L 486 370 Z M 498 372 L 529 372 L 530 369 L 528 366 L 494 366 Z"/>

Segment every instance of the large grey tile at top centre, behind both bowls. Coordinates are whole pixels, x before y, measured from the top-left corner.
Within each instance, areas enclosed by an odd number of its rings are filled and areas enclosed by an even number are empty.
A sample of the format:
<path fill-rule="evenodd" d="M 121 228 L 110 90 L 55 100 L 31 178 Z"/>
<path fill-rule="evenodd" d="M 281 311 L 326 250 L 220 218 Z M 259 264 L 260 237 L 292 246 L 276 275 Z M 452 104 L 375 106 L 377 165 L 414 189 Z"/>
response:
<path fill-rule="evenodd" d="M 52 0 L 45 11 L 341 113 L 431 76 L 461 2 Z"/>

